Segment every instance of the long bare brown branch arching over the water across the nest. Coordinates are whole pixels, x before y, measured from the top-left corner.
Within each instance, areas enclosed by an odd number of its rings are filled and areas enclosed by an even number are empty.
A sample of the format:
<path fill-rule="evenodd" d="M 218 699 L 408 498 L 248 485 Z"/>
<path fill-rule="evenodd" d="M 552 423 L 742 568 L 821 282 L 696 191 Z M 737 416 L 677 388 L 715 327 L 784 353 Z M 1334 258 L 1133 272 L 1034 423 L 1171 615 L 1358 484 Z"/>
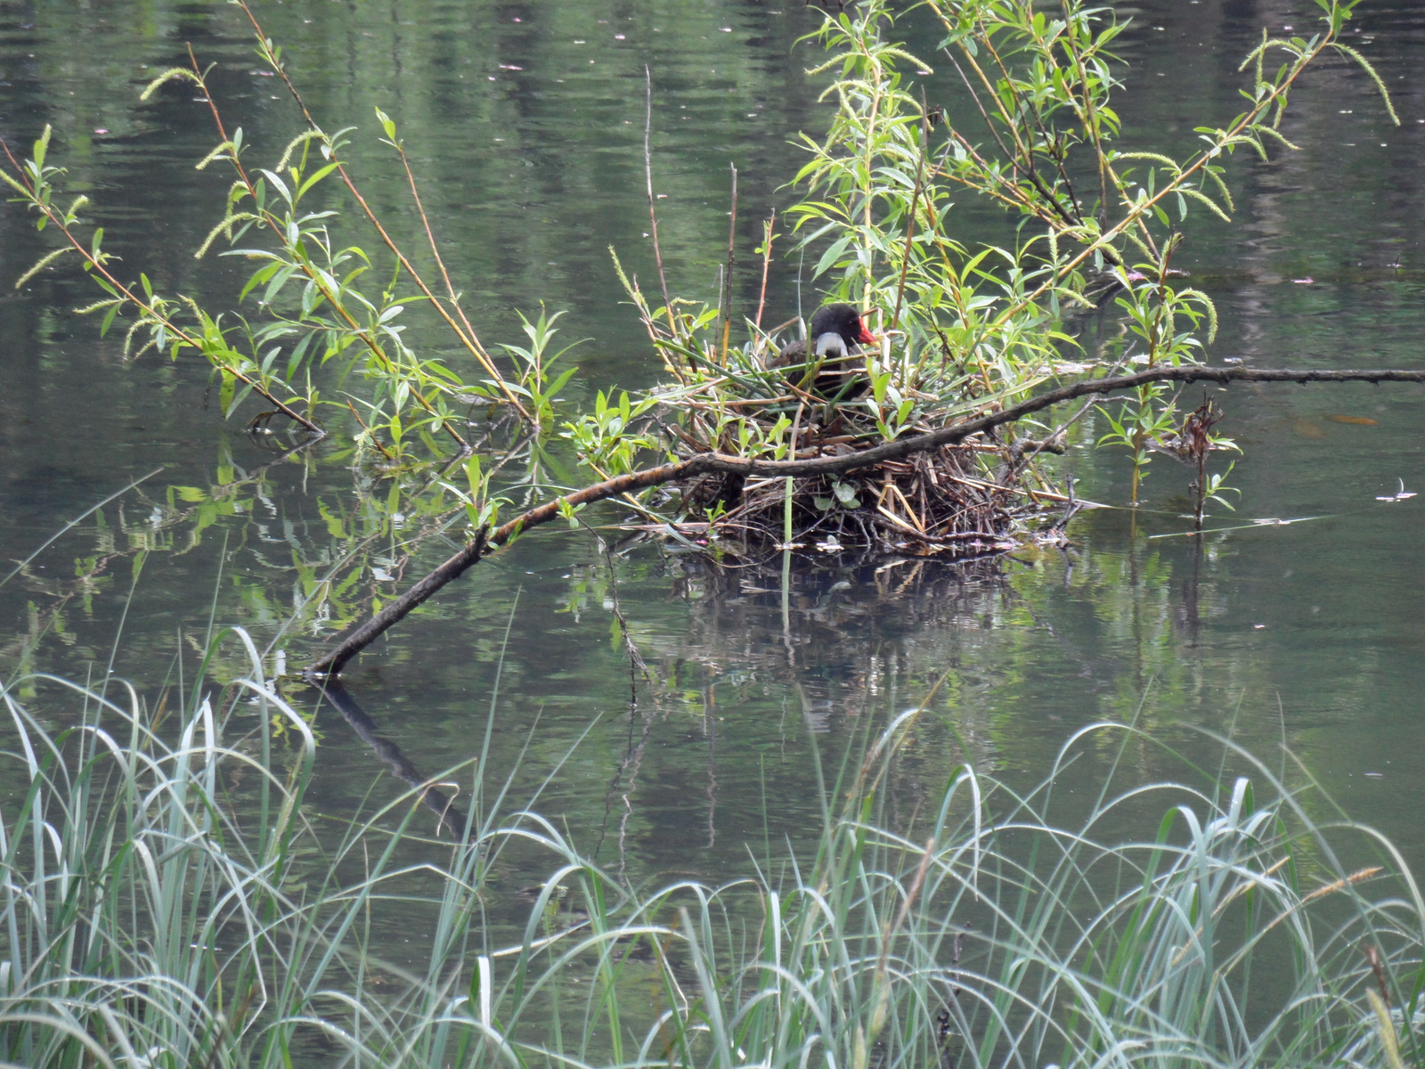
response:
<path fill-rule="evenodd" d="M 992 412 L 976 419 L 966 419 L 960 423 L 952 423 L 950 426 L 945 426 L 925 435 L 915 435 L 911 438 L 896 439 L 895 442 L 885 442 L 872 449 L 862 449 L 858 453 L 846 456 L 815 456 L 807 460 L 751 460 L 744 456 L 728 456 L 725 453 L 698 453 L 697 456 L 677 463 L 646 468 L 638 472 L 630 472 L 628 475 L 620 475 L 614 479 L 606 479 L 601 483 L 586 486 L 583 490 L 574 490 L 573 493 L 566 493 L 563 497 L 544 502 L 540 506 L 520 513 L 513 520 L 496 527 L 493 532 L 479 532 L 470 544 L 440 564 L 435 572 L 410 587 L 410 590 L 405 594 L 388 603 L 385 609 L 352 631 L 352 634 L 336 646 L 336 649 L 316 660 L 312 667 L 308 668 L 308 674 L 335 676 L 341 673 L 342 667 L 345 667 L 352 657 L 370 646 L 378 636 L 399 623 L 408 613 L 410 613 L 412 609 L 422 604 L 446 583 L 459 579 L 466 569 L 476 564 L 480 557 L 486 556 L 492 546 L 504 546 L 517 534 L 523 534 L 532 527 L 559 519 L 566 509 L 577 507 L 580 505 L 593 505 L 594 502 L 607 500 L 608 497 L 617 497 L 621 493 L 643 490 L 648 486 L 661 486 L 681 479 L 691 479 L 698 475 L 707 475 L 708 472 L 735 472 L 748 477 L 791 476 L 795 479 L 811 475 L 839 475 L 858 468 L 871 468 L 885 460 L 898 460 L 903 456 L 928 453 L 946 445 L 956 445 L 972 435 L 983 433 L 985 430 L 990 430 L 992 428 L 1003 423 L 1013 423 L 1017 419 L 1023 419 L 1025 416 L 1033 415 L 1035 412 L 1040 412 L 1053 405 L 1063 403 L 1064 401 L 1073 401 L 1089 395 L 1136 389 L 1146 382 L 1425 382 L 1425 371 L 1402 371 L 1398 368 L 1345 368 L 1341 371 L 1197 366 L 1151 368 L 1133 375 L 1116 375 L 1107 379 L 1090 379 L 1086 382 L 1076 382 L 1069 386 L 1060 386 L 1059 389 L 1047 391 L 1046 393 L 1040 393 L 1029 401 L 1022 401 L 1017 405 L 1010 405 L 999 412 Z"/>

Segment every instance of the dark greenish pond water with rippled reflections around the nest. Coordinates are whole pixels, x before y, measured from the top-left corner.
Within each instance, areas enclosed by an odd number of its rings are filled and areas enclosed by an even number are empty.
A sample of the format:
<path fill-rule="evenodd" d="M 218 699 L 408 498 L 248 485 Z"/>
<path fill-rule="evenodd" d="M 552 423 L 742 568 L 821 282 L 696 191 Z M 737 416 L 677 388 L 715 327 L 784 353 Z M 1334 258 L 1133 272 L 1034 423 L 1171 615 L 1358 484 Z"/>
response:
<path fill-rule="evenodd" d="M 797 41 L 817 16 L 799 3 L 264 9 L 314 113 L 362 127 L 353 158 L 373 202 L 413 225 L 372 108 L 398 121 L 486 341 L 519 338 L 516 309 L 540 301 L 569 309 L 561 336 L 591 338 L 577 351 L 571 399 L 656 373 L 607 252 L 616 245 L 651 277 L 644 64 L 661 237 L 684 294 L 714 294 L 728 164 L 740 171 L 750 262 L 758 218 L 794 200 L 784 182 L 802 161 L 798 131 L 819 135 L 829 115 L 821 83 L 804 73 L 815 57 Z M 1237 63 L 1263 27 L 1307 31 L 1314 10 L 1307 0 L 1123 7 L 1133 19 L 1121 38 L 1127 140 L 1186 153 L 1194 125 L 1240 108 Z M 0 137 L 24 147 L 53 123 L 57 162 L 94 200 L 125 265 L 214 302 L 235 292 L 241 271 L 191 255 L 227 185 L 192 170 L 214 140 L 207 108 L 182 91 L 140 104 L 138 91 L 185 63 L 191 41 L 218 63 L 228 123 L 258 153 L 279 154 L 298 130 L 294 108 L 255 73 L 239 16 L 180 0 L 63 10 L 0 0 Z M 1425 98 L 1415 78 L 1425 14 L 1409 0 L 1368 0 L 1352 26 L 1402 125 L 1388 123 L 1359 70 L 1334 63 L 1292 97 L 1284 133 L 1301 151 L 1231 161 L 1235 225 L 1198 218 L 1176 261 L 1220 309 L 1214 361 L 1425 363 Z M 929 58 L 931 30 L 903 29 Z M 932 101 L 953 103 L 952 78 L 926 78 Z M 1003 229 L 975 205 L 963 225 L 966 239 Z M 162 470 L 0 586 L 0 671 L 113 670 L 157 694 L 180 664 L 197 668 L 212 620 L 301 664 L 333 626 L 308 616 L 291 626 L 294 607 L 362 533 L 358 492 L 372 492 L 341 435 L 279 458 L 239 419 L 221 419 L 204 368 L 154 355 L 125 362 L 121 341 L 100 341 L 93 321 L 73 315 L 93 299 L 80 272 L 10 288 L 44 248 L 23 211 L 0 205 L 0 572 Z M 797 267 L 774 272 L 777 319 L 795 312 Z M 752 275 L 738 279 L 738 301 L 755 298 Z M 814 284 L 802 285 L 802 301 L 815 301 Z M 1086 338 L 1116 331 L 1103 321 Z M 1231 734 L 1277 768 L 1285 741 L 1300 760 L 1294 781 L 1315 777 L 1419 861 L 1425 496 L 1379 497 L 1399 480 L 1425 489 L 1425 391 L 1234 386 L 1214 396 L 1245 450 L 1233 475 L 1241 500 L 1235 513 L 1218 510 L 1213 526 L 1224 530 L 1201 540 L 1183 537 L 1187 469 L 1154 462 L 1143 506 L 1130 512 L 1124 458 L 1090 448 L 1070 450 L 1066 469 L 1083 497 L 1119 507 L 1074 520 L 1067 552 L 969 566 L 828 562 L 794 576 L 785 609 L 775 570 L 718 569 L 641 544 L 616 553 L 610 574 L 593 537 L 550 529 L 442 592 L 365 653 L 346 684 L 373 721 L 366 734 L 428 775 L 477 753 L 493 708 L 489 770 L 503 778 L 517 767 L 516 798 L 544 784 L 539 808 L 636 878 L 721 878 L 745 871 L 748 851 L 814 837 L 817 763 L 835 768 L 942 674 L 933 717 L 889 785 L 899 814 L 935 797 L 959 761 L 1035 781 L 1076 727 L 1137 717 L 1190 755 L 1216 748 L 1200 731 Z M 1094 436 L 1089 426 L 1080 440 Z M 1300 522 L 1253 523 L 1261 519 Z M 402 563 L 389 537 L 386 556 L 355 580 L 353 611 L 449 553 L 426 532 Z M 653 683 L 630 677 L 616 607 Z M 349 812 L 373 781 L 378 800 L 402 790 L 331 708 L 316 725 L 316 808 Z M 1096 790 L 1107 760 L 1074 764 L 1067 790 Z M 1133 767 L 1181 774 L 1150 747 Z M 502 878 L 517 887 L 529 875 Z"/>

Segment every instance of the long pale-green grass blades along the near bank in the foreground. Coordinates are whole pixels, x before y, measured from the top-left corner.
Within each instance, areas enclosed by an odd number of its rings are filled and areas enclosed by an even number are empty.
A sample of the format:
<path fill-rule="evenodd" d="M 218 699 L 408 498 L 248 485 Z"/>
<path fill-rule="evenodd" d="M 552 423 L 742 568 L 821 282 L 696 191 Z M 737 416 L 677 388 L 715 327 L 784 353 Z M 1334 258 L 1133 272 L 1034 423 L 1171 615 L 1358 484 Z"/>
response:
<path fill-rule="evenodd" d="M 455 842 L 418 834 L 415 794 L 318 821 L 311 731 L 258 668 L 167 713 L 27 686 L 53 707 L 3 694 L 7 1065 L 1419 1060 L 1408 871 L 1230 747 L 1270 798 L 1245 778 L 1106 785 L 1056 820 L 1054 775 L 1086 745 L 1156 745 L 1104 724 L 1027 795 L 953 770 L 902 831 L 878 798 L 912 711 L 828 784 L 814 857 L 646 891 L 479 773 L 463 797 L 496 801 Z M 516 854 L 546 875 L 532 905 L 483 889 Z M 402 961 L 375 935 L 393 924 Z"/>

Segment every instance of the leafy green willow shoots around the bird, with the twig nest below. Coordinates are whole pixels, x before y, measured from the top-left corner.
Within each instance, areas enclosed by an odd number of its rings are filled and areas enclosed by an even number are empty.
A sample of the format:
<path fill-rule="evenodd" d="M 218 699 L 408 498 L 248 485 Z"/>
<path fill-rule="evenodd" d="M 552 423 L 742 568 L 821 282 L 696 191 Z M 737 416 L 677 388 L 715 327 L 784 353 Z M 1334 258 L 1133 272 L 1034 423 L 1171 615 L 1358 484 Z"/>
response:
<path fill-rule="evenodd" d="M 807 138 L 812 158 L 797 175 L 804 200 L 787 212 L 799 248 L 814 257 L 814 278 L 831 298 L 866 309 L 884 335 L 879 351 L 865 358 L 865 395 L 846 386 L 818 393 L 815 361 L 768 371 L 778 339 L 762 332 L 761 309 L 748 321 L 752 339 L 730 349 L 730 309 L 678 311 L 684 302 L 650 308 L 628 284 L 677 381 L 653 398 L 681 425 L 684 448 L 775 459 L 849 452 L 996 410 L 1049 378 L 1203 363 L 1216 311 L 1204 292 L 1180 285 L 1181 272 L 1171 267 L 1190 208 L 1228 220 L 1227 157 L 1238 148 L 1263 157 L 1277 145 L 1290 148 L 1281 118 L 1291 87 L 1312 61 L 1340 51 L 1365 66 L 1338 40 L 1355 4 L 1321 0 L 1320 31 L 1264 38 L 1243 63 L 1253 71 L 1244 91 L 1248 108 L 1220 127 L 1201 127 L 1206 145 L 1176 161 L 1117 145 L 1112 97 L 1120 81 L 1112 46 L 1123 23 L 1112 9 L 928 6 L 943 24 L 946 58 L 973 103 L 966 118 L 983 118 L 989 141 L 973 120 L 962 127 L 931 108 L 923 93 L 918 98 L 899 68 L 929 64 L 893 43 L 892 4 L 854 4 L 828 17 L 817 34 L 829 57 L 814 73 L 835 71 L 824 95 L 835 98 L 838 110 L 825 140 Z M 1282 60 L 1270 76 L 1267 57 Z M 1016 244 L 966 248 L 956 241 L 956 188 L 1017 217 Z M 764 255 L 771 224 L 767 235 Z M 1106 368 L 1066 359 L 1066 352 L 1079 353 L 1064 321 L 1110 298 L 1130 344 Z M 848 537 L 848 525 L 839 522 L 835 536 L 842 544 L 905 536 L 935 544 L 965 533 L 1023 529 L 1026 515 L 1007 507 L 1007 499 L 1059 497 L 1035 460 L 1060 452 L 1064 432 L 1087 408 L 1045 426 L 1043 440 L 1017 448 L 1010 429 L 1007 440 L 986 436 L 968 455 L 931 455 L 913 468 L 868 466 L 855 477 L 814 477 L 785 495 L 781 480 L 764 480 L 737 507 L 728 503 L 725 516 L 722 497 L 714 495 L 710 517 L 714 526 L 791 542 L 792 530 L 826 526 L 828 517 L 818 513 L 851 513 L 859 537 Z M 1137 386 L 1106 406 L 1106 416 L 1112 429 L 1102 443 L 1130 450 L 1134 500 L 1150 449 L 1163 449 L 1198 465 L 1198 520 L 1204 499 L 1227 505 L 1227 473 L 1208 475 L 1206 453 L 1235 445 L 1210 433 L 1207 413 L 1184 418 L 1170 382 Z M 610 435 L 597 418 L 586 418 L 576 442 L 583 455 L 623 470 L 613 456 L 627 448 L 623 428 Z M 650 432 L 637 443 L 651 450 L 658 438 Z M 886 533 L 876 536 L 865 517 Z"/>

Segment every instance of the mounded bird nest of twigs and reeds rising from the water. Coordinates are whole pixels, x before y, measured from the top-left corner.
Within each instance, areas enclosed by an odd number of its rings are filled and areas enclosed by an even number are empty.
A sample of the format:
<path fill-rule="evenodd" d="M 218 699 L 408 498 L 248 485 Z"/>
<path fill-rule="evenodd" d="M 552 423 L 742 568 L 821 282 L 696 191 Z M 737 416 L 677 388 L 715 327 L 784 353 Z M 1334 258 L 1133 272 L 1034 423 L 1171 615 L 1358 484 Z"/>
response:
<path fill-rule="evenodd" d="M 779 449 L 781 459 L 846 456 L 882 443 L 891 415 L 902 416 L 895 433 L 915 435 L 1003 402 L 989 376 L 955 366 L 943 352 L 906 358 L 893 376 L 933 392 L 912 386 L 896 392 L 875 389 L 872 376 L 881 369 L 875 355 L 858 353 L 844 368 L 812 362 L 772 369 L 761 356 L 767 351 L 775 352 L 770 341 L 712 363 L 704 349 L 681 369 L 683 383 L 664 401 L 671 419 L 663 422 L 677 452 L 748 455 L 761 448 Z M 1032 382 L 1016 383 L 1026 385 Z M 845 475 L 794 479 L 789 487 L 784 477 L 711 475 L 680 487 L 680 512 L 688 533 L 750 550 L 1000 553 L 1019 544 L 1046 509 L 1063 512 L 1063 496 L 1035 470 L 1043 452 L 1062 453 L 1063 446 L 972 439 Z"/>

